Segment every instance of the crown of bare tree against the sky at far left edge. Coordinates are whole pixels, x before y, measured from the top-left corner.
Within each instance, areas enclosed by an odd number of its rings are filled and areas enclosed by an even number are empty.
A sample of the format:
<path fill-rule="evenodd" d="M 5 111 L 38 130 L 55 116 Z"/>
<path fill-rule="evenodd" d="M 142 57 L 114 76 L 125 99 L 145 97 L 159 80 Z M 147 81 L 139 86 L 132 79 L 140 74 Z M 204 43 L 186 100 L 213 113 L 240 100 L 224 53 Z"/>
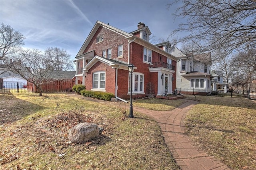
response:
<path fill-rule="evenodd" d="M 0 60 L 6 55 L 16 53 L 24 45 L 25 37 L 10 25 L 1 23 L 0 25 Z"/>

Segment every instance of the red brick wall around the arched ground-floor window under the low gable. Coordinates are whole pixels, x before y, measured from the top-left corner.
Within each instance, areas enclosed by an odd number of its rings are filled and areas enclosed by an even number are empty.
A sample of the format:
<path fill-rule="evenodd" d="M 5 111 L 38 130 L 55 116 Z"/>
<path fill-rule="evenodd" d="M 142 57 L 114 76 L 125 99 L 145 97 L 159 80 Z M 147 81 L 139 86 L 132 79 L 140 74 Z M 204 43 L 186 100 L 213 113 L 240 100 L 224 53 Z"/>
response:
<path fill-rule="evenodd" d="M 107 64 L 104 64 L 98 61 L 87 72 L 86 82 L 85 82 L 86 89 L 87 90 L 92 89 L 92 76 L 94 72 L 105 71 L 106 72 L 105 90 L 106 92 L 115 94 L 115 84 L 116 84 L 115 70 L 116 69 L 111 68 L 111 66 L 108 66 Z"/>

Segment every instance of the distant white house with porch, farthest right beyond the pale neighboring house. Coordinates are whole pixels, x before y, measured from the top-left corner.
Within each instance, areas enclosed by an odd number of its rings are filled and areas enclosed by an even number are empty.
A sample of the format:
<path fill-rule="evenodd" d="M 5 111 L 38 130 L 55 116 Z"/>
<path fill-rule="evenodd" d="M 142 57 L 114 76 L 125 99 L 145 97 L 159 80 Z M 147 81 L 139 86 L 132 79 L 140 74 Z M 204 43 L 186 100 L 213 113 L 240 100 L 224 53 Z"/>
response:
<path fill-rule="evenodd" d="M 228 82 L 226 81 L 226 77 L 223 76 L 223 72 L 212 70 L 211 74 L 213 77 L 211 80 L 212 90 L 218 90 L 219 92 L 224 93 L 228 92 Z"/>

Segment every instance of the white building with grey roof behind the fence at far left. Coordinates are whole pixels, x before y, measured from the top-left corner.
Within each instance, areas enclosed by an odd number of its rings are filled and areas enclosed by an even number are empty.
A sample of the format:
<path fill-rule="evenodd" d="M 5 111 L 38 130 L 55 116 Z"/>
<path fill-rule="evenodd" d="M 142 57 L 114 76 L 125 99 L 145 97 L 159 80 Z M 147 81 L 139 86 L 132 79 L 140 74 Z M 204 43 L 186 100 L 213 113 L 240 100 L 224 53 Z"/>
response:
<path fill-rule="evenodd" d="M 0 78 L 3 79 L 4 88 L 22 88 L 24 84 L 27 84 L 27 80 L 14 74 L 13 72 L 8 71 L 6 68 L 0 68 Z"/>

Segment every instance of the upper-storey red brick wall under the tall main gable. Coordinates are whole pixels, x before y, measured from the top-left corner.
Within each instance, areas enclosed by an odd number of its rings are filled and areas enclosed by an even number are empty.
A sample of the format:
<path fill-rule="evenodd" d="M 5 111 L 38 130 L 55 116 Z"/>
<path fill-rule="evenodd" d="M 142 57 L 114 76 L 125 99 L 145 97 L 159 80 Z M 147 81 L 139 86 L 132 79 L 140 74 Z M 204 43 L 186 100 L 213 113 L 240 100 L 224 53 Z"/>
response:
<path fill-rule="evenodd" d="M 103 35 L 104 41 L 96 44 L 96 38 L 100 35 Z M 123 45 L 124 58 L 120 58 L 120 60 L 128 62 L 128 40 L 124 36 L 100 26 L 84 53 L 94 50 L 94 55 L 102 57 L 102 51 L 111 48 L 111 59 L 115 59 L 118 57 L 118 45 Z"/>

